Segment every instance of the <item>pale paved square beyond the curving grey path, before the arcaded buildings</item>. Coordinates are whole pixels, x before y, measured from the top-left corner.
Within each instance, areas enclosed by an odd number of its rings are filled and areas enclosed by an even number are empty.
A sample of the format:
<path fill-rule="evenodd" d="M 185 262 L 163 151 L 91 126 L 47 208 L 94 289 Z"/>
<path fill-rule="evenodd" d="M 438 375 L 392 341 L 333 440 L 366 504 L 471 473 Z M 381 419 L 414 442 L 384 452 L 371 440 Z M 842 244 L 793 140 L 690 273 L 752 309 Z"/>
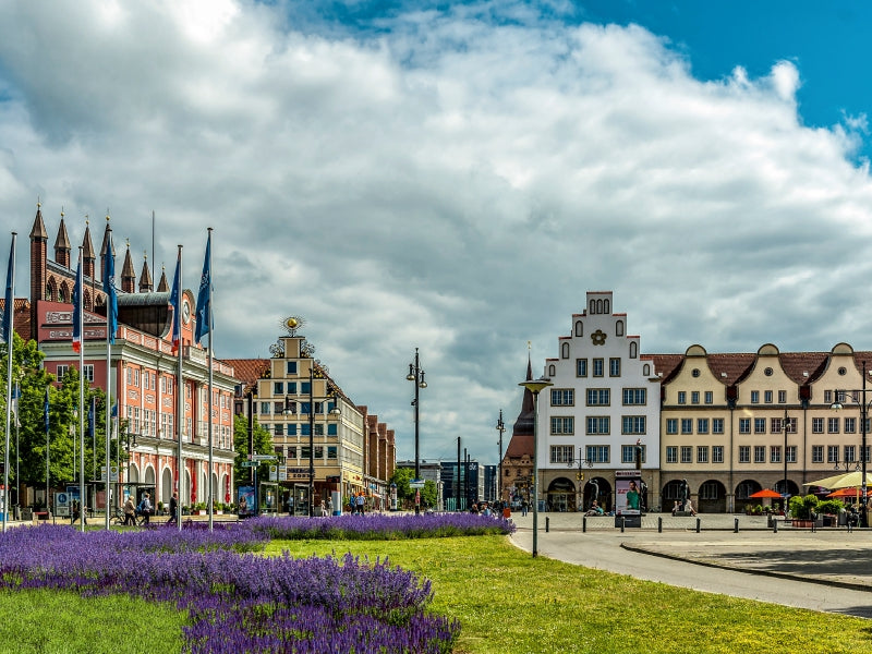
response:
<path fill-rule="evenodd" d="M 779 520 L 776 533 L 767 526 L 765 516 L 674 518 L 669 513 L 649 513 L 642 519 L 641 529 L 626 528 L 621 533 L 620 528 L 615 526 L 614 517 L 588 518 L 586 521 L 582 518 L 579 513 L 540 513 L 538 542 L 552 545 L 550 532 L 560 534 L 560 538 L 553 538 L 557 547 L 552 546 L 549 550 L 552 556 L 562 560 L 570 560 L 574 555 L 558 543 L 569 534 L 577 534 L 577 542 L 589 538 L 592 545 L 614 540 L 623 549 L 657 557 L 872 591 L 872 529 L 848 532 L 843 526 L 812 532 L 794 529 Z M 736 519 L 739 521 L 738 533 L 734 531 Z M 526 517 L 512 514 L 512 520 L 519 532 L 532 532 L 532 513 Z M 582 531 L 585 522 L 586 533 Z M 658 531 L 661 526 L 662 532 Z"/>

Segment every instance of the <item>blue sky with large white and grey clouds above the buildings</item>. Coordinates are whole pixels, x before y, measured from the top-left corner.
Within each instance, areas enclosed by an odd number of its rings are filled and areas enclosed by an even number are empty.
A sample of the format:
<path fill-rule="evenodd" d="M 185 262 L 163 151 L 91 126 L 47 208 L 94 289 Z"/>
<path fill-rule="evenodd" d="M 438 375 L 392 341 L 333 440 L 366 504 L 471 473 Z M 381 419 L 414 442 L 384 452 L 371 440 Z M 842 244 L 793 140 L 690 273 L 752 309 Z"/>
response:
<path fill-rule="evenodd" d="M 589 290 L 643 353 L 872 349 L 872 8 L 0 0 L 0 252 L 37 199 L 196 289 L 216 355 L 305 319 L 422 460 L 495 464 Z M 863 39 L 861 41 L 861 39 Z M 152 211 L 156 239 L 152 247 Z M 99 246 L 99 243 L 95 243 Z M 119 259 L 119 264 L 123 259 Z M 528 348 L 530 343 L 530 348 Z"/>

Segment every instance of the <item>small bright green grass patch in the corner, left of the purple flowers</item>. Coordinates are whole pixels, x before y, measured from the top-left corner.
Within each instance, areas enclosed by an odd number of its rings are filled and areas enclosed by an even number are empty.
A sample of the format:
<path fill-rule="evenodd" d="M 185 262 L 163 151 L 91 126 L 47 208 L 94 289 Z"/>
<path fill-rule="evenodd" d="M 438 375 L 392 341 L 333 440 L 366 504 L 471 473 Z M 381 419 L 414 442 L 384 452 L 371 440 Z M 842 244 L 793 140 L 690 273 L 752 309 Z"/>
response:
<path fill-rule="evenodd" d="M 5 654 L 178 654 L 186 615 L 123 595 L 89 597 L 56 590 L 0 591 L 0 652 Z"/>

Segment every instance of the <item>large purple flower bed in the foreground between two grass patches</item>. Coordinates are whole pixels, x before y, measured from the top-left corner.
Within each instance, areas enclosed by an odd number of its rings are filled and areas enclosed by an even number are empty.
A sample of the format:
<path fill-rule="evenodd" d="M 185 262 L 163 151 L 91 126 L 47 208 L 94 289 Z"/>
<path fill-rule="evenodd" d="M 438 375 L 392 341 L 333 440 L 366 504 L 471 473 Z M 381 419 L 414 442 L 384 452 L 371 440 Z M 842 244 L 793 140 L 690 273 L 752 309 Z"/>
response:
<path fill-rule="evenodd" d="M 181 534 L 19 528 L 0 536 L 0 588 L 173 602 L 191 616 L 192 654 L 450 652 L 460 625 L 426 613 L 428 581 L 350 555 L 257 556 L 251 549 L 268 540 L 264 526 L 252 520 Z"/>

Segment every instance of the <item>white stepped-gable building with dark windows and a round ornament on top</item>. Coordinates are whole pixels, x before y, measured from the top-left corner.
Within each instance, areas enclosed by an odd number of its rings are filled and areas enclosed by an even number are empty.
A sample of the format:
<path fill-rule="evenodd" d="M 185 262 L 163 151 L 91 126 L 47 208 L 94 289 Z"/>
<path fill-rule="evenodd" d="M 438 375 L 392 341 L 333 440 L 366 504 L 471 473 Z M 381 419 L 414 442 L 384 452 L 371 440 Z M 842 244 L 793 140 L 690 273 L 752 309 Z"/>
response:
<path fill-rule="evenodd" d="M 656 509 L 661 379 L 639 337 L 628 336 L 627 314 L 613 312 L 611 291 L 588 292 L 544 376 L 554 386 L 538 400 L 538 499 L 555 511 L 593 499 L 614 508 L 615 479 L 635 470 L 639 447 L 647 508 Z"/>

